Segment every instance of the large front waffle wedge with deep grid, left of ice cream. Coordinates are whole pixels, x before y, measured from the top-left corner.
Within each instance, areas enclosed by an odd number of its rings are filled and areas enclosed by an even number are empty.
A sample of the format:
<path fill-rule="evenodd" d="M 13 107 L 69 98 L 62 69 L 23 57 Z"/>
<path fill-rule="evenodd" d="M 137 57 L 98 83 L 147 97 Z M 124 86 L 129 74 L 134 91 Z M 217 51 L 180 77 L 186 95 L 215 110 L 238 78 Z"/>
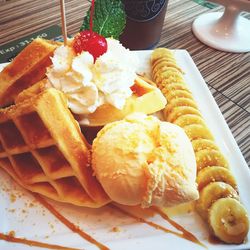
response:
<path fill-rule="evenodd" d="M 24 188 L 78 206 L 109 202 L 64 95 L 49 88 L 0 110 L 0 167 Z"/>

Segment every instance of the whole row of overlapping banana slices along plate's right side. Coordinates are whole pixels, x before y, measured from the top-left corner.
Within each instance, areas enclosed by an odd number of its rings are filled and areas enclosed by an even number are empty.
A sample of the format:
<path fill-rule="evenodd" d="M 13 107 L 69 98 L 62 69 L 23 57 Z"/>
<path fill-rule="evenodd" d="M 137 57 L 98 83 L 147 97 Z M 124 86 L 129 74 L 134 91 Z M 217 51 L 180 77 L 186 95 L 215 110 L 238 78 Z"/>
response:
<path fill-rule="evenodd" d="M 166 48 L 153 51 L 151 66 L 152 78 L 167 99 L 165 120 L 182 127 L 193 145 L 200 192 L 197 212 L 222 241 L 244 242 L 249 219 L 239 202 L 237 183 L 185 83 L 182 69 Z"/>

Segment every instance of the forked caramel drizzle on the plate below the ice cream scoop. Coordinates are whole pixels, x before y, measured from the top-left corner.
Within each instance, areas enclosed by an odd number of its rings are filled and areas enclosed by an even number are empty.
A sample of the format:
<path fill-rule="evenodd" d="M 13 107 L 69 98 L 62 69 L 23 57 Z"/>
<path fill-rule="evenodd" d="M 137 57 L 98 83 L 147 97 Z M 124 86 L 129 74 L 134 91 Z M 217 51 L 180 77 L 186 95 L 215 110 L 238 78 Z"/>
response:
<path fill-rule="evenodd" d="M 183 228 L 181 225 L 179 225 L 177 222 L 173 221 L 172 219 L 170 219 L 167 214 L 165 214 L 163 211 L 161 211 L 159 208 L 157 207 L 153 207 L 152 209 L 159 214 L 164 220 L 168 221 L 172 226 L 174 226 L 177 230 L 181 231 L 181 233 L 177 233 L 175 231 L 172 231 L 170 229 L 167 229 L 161 225 L 158 225 L 152 221 L 147 221 L 145 219 L 143 219 L 142 217 L 136 216 L 128 211 L 126 211 L 125 209 L 122 209 L 121 207 L 116 206 L 115 204 L 109 204 L 109 206 L 113 209 L 118 210 L 119 212 L 134 218 L 136 221 L 141 222 L 141 223 L 145 223 L 151 227 L 154 227 L 157 230 L 162 230 L 165 233 L 171 233 L 174 234 L 180 238 L 189 240 L 193 243 L 199 244 L 200 246 L 207 248 L 205 245 L 203 245 L 192 233 L 188 232 L 185 228 Z"/>

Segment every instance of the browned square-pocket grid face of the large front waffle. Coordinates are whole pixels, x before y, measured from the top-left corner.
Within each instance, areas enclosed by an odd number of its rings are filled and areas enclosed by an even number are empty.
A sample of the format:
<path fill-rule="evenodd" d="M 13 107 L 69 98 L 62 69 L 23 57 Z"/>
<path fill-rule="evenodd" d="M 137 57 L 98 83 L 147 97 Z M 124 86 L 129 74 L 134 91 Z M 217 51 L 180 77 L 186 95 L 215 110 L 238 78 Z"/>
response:
<path fill-rule="evenodd" d="M 0 167 L 30 191 L 76 205 L 98 206 L 50 134 L 38 107 L 27 102 L 16 107 L 14 112 L 12 108 L 0 111 Z"/>

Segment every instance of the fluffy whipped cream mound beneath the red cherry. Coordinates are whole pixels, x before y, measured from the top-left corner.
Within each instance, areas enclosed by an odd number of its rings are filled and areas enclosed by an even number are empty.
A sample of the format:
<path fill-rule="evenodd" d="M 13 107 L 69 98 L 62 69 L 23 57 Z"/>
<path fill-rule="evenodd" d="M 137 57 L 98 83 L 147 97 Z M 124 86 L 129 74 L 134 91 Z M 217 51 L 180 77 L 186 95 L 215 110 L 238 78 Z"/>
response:
<path fill-rule="evenodd" d="M 76 55 L 70 46 L 60 46 L 51 58 L 48 80 L 65 93 L 75 114 L 87 116 L 104 103 L 122 109 L 132 95 L 138 59 L 115 39 L 108 38 L 107 45 L 95 63 L 91 54 Z"/>

